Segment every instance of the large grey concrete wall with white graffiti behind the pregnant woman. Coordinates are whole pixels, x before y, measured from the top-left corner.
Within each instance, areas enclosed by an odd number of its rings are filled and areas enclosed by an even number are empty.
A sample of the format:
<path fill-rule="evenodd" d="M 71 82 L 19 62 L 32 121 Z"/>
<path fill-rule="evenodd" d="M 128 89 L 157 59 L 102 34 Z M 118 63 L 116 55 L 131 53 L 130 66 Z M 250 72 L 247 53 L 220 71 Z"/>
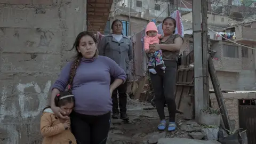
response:
<path fill-rule="evenodd" d="M 50 86 L 86 30 L 86 0 L 0 2 L 0 143 L 41 143 Z"/>

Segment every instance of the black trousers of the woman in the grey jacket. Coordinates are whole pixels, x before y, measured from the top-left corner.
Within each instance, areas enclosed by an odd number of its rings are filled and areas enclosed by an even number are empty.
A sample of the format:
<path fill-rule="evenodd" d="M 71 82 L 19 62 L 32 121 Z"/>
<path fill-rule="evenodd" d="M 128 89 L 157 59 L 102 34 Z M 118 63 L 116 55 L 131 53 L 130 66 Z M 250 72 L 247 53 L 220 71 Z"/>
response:
<path fill-rule="evenodd" d="M 115 79 L 113 77 L 111 77 L 111 83 L 115 81 Z M 126 105 L 127 105 L 127 79 L 125 81 L 125 83 L 119 85 L 112 93 L 112 102 L 113 102 L 113 108 L 112 108 L 112 112 L 113 113 L 119 113 L 118 110 L 118 99 L 117 99 L 117 92 L 119 94 L 119 109 L 120 109 L 120 113 L 124 114 L 126 113 Z"/>

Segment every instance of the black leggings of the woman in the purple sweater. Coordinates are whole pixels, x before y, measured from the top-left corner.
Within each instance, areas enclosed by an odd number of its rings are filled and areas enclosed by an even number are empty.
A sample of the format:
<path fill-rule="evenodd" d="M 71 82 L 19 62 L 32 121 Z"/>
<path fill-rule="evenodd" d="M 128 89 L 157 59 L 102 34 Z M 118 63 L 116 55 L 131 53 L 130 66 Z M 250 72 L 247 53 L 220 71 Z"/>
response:
<path fill-rule="evenodd" d="M 77 144 L 106 144 L 110 127 L 110 112 L 105 115 L 82 115 L 74 111 L 71 117 L 71 130 Z"/>

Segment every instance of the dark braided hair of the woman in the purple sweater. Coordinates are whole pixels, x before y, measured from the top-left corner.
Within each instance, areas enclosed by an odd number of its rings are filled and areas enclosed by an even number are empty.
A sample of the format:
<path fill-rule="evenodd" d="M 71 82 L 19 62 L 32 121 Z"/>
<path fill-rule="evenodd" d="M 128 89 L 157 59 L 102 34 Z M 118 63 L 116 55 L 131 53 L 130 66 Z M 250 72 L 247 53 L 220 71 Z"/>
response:
<path fill-rule="evenodd" d="M 80 52 L 78 52 L 77 47 L 79 46 L 79 43 L 80 43 L 81 38 L 84 37 L 84 36 L 90 36 L 90 37 L 92 37 L 93 41 L 94 41 L 95 43 L 97 43 L 97 39 L 93 36 L 92 33 L 88 32 L 88 31 L 82 31 L 81 33 L 79 33 L 79 34 L 77 35 L 76 40 L 75 40 L 75 42 L 74 42 L 74 44 L 73 44 L 73 47 L 72 47 L 72 49 L 70 50 L 70 51 L 72 51 L 72 50 L 76 49 L 76 55 L 75 55 L 75 57 L 74 57 L 74 62 L 72 63 L 71 69 L 70 69 L 70 79 L 69 79 L 70 88 L 69 88 L 69 89 L 72 88 L 73 80 L 74 80 L 74 77 L 75 77 L 75 75 L 76 75 L 76 69 L 77 69 L 77 67 L 79 66 L 79 63 L 80 63 L 80 61 L 81 61 L 81 59 L 82 59 L 82 57 L 83 57 L 83 55 L 82 55 Z M 96 52 L 95 52 L 94 57 L 98 57 L 98 55 L 99 55 L 99 51 L 98 51 L 98 49 L 96 49 Z"/>

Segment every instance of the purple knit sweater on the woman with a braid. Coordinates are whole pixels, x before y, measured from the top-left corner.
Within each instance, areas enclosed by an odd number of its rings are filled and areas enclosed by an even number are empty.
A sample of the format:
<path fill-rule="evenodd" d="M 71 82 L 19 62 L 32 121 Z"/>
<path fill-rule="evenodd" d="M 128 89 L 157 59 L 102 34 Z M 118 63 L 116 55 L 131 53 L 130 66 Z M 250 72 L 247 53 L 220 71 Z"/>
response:
<path fill-rule="evenodd" d="M 64 91 L 70 77 L 71 63 L 61 70 L 59 78 L 53 84 Z M 111 111 L 110 76 L 126 80 L 126 74 L 115 61 L 108 57 L 82 58 L 73 80 L 72 92 L 75 95 L 75 112 L 84 115 L 103 115 Z"/>

